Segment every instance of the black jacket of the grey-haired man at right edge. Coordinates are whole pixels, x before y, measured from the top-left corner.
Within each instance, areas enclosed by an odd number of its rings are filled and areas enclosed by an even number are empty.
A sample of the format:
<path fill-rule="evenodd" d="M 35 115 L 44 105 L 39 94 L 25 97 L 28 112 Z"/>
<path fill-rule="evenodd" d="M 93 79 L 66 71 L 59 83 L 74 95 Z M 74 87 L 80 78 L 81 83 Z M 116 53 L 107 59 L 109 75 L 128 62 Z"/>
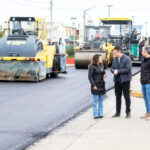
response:
<path fill-rule="evenodd" d="M 144 58 L 141 64 L 141 83 L 150 84 L 150 58 Z"/>

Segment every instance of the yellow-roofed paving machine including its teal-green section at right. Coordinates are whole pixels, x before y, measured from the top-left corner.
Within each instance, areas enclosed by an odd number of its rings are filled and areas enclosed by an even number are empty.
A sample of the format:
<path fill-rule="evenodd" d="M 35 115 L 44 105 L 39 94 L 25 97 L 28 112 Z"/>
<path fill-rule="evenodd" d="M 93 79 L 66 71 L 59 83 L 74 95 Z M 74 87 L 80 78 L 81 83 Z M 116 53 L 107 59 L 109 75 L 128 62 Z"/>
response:
<path fill-rule="evenodd" d="M 132 29 L 130 18 L 100 18 L 104 26 L 110 27 L 109 39 L 113 46 L 121 46 L 123 53 L 132 59 L 133 64 L 140 64 L 139 45 L 140 33 Z"/>

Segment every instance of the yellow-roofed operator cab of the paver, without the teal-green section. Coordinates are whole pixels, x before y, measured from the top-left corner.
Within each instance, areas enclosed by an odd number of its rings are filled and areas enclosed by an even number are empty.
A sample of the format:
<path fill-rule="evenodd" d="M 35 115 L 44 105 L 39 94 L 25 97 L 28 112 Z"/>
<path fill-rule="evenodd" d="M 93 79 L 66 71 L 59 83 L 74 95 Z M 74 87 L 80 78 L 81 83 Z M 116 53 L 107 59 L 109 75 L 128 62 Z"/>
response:
<path fill-rule="evenodd" d="M 114 46 L 121 46 L 124 53 L 130 54 L 130 36 L 132 20 L 130 18 L 100 18 L 104 26 L 110 27 L 110 41 Z"/>

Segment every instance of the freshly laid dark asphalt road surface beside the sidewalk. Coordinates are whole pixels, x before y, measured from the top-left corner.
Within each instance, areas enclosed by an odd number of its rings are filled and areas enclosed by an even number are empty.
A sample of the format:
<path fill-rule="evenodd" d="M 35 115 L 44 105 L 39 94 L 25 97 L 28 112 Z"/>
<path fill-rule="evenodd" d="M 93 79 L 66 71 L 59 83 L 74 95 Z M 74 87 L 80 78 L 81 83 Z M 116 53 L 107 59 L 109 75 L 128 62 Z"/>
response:
<path fill-rule="evenodd" d="M 133 73 L 139 67 L 133 67 Z M 88 70 L 39 83 L 0 82 L 0 150 L 24 150 L 92 105 Z M 106 88 L 113 87 L 107 69 Z"/>

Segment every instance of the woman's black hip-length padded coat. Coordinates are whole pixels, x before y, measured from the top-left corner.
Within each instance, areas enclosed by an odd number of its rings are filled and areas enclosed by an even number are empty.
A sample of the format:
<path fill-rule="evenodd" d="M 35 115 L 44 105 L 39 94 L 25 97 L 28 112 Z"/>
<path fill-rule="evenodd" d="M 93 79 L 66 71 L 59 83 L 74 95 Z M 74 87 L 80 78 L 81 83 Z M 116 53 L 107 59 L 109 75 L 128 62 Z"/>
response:
<path fill-rule="evenodd" d="M 98 67 L 96 64 L 91 65 L 89 68 L 89 81 L 91 83 L 91 93 L 94 95 L 105 94 L 105 81 L 104 81 L 105 70 L 104 67 Z M 93 87 L 96 86 L 97 90 Z"/>

